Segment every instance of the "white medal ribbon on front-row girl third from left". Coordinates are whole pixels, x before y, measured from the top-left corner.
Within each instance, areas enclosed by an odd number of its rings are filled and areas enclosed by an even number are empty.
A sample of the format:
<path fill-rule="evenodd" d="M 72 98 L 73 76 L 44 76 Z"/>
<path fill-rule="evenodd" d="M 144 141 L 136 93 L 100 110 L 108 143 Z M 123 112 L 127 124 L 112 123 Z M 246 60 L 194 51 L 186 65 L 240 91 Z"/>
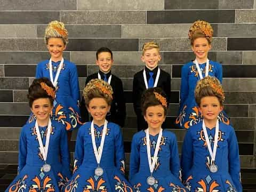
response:
<path fill-rule="evenodd" d="M 157 142 L 156 142 L 156 149 L 155 149 L 155 153 L 154 153 L 154 157 L 153 157 L 152 162 L 151 162 L 151 154 L 150 154 L 149 130 L 146 129 L 145 131 L 146 131 L 146 138 L 147 138 L 148 164 L 149 164 L 150 173 L 152 174 L 153 171 L 154 171 L 154 167 L 156 165 L 157 154 L 158 154 L 158 151 L 159 151 L 160 141 L 161 141 L 161 138 L 162 138 L 163 130 L 161 128 L 161 130 L 158 134 L 158 138 L 157 138 Z"/>

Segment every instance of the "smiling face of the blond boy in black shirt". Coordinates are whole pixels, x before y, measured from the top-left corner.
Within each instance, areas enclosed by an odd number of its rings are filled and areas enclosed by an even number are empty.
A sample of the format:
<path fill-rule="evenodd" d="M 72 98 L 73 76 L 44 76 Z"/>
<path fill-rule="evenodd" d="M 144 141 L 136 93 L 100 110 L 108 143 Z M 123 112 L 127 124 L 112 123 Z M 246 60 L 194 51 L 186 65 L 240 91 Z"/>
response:
<path fill-rule="evenodd" d="M 147 68 L 153 70 L 157 67 L 158 61 L 161 60 L 161 55 L 159 54 L 158 49 L 153 48 L 146 50 L 141 56 L 141 60 L 145 62 Z"/>

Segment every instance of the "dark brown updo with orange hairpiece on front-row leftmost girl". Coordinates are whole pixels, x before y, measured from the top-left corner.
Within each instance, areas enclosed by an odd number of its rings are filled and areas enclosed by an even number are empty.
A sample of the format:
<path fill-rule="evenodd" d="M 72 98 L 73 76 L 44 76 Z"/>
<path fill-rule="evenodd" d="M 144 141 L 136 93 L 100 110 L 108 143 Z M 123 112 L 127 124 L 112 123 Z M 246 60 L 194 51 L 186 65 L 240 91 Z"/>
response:
<path fill-rule="evenodd" d="M 29 86 L 27 94 L 29 107 L 31 108 L 33 102 L 40 98 L 49 98 L 51 106 L 53 106 L 53 101 L 55 99 L 53 95 L 55 95 L 55 87 L 48 78 L 42 77 L 34 79 L 33 83 Z"/>

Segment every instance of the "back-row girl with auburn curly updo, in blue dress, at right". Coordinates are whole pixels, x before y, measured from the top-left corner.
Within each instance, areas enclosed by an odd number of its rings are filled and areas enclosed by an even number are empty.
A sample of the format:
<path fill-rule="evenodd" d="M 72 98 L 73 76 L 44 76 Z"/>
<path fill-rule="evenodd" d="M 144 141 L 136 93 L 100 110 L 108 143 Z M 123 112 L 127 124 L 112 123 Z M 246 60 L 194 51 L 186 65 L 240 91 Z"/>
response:
<path fill-rule="evenodd" d="M 206 76 L 217 77 L 222 82 L 222 66 L 220 63 L 209 60 L 213 29 L 206 21 L 196 21 L 189 29 L 191 49 L 196 59 L 189 61 L 181 69 L 180 108 L 175 124 L 180 128 L 188 129 L 200 122 L 202 116 L 198 111 L 194 98 L 194 90 L 199 79 Z M 219 121 L 229 125 L 229 118 L 224 111 L 219 114 Z"/>

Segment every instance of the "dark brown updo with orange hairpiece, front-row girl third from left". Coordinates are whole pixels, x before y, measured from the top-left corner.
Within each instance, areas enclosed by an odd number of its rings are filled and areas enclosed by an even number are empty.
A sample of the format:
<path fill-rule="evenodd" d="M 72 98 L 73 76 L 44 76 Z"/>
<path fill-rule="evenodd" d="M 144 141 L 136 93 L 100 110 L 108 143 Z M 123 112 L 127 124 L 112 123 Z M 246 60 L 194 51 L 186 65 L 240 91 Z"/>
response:
<path fill-rule="evenodd" d="M 159 98 L 160 96 L 160 98 Z M 142 115 L 146 115 L 146 110 L 151 106 L 161 105 L 164 108 L 164 115 L 167 114 L 166 94 L 160 87 L 147 89 L 141 97 Z"/>

